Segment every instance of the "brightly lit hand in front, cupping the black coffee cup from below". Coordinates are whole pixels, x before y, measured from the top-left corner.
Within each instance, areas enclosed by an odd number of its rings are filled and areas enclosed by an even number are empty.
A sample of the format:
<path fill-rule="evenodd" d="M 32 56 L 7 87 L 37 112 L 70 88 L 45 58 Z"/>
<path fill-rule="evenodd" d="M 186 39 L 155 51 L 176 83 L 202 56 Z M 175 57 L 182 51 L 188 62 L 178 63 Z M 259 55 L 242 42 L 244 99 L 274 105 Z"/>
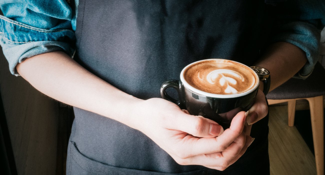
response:
<path fill-rule="evenodd" d="M 202 165 L 224 170 L 240 158 L 252 142 L 243 132 L 245 112 L 223 130 L 213 120 L 183 112 L 176 104 L 153 98 L 133 108 L 133 124 L 180 165 Z"/>

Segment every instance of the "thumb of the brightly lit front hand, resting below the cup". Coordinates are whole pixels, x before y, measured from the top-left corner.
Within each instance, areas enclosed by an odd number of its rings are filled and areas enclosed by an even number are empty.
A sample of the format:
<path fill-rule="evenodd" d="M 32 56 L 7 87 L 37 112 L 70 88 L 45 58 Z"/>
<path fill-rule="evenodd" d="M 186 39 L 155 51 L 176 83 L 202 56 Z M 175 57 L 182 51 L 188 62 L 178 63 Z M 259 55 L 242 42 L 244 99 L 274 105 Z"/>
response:
<path fill-rule="evenodd" d="M 170 129 L 180 130 L 195 137 L 216 137 L 223 133 L 221 125 L 202 116 L 187 114 L 187 111 L 175 115 Z"/>

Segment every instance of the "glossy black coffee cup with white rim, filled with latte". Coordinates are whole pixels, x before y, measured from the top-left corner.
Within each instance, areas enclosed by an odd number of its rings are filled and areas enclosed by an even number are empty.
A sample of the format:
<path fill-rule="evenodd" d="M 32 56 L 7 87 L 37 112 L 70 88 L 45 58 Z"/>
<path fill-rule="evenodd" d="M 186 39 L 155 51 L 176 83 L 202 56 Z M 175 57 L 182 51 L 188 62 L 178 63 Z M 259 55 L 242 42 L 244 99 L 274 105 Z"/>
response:
<path fill-rule="evenodd" d="M 207 59 L 187 65 L 180 80 L 165 81 L 160 93 L 190 114 L 214 120 L 226 129 L 237 113 L 252 107 L 258 87 L 258 75 L 250 67 L 236 61 Z M 178 99 L 168 95 L 167 88 L 175 88 Z"/>

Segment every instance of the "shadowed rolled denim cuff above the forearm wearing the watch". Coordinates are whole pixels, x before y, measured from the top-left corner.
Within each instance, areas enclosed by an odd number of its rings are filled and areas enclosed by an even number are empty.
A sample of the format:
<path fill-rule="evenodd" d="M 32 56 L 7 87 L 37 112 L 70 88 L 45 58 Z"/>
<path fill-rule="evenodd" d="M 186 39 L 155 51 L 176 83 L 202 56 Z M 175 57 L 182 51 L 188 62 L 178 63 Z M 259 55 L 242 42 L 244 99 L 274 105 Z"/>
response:
<path fill-rule="evenodd" d="M 306 53 L 308 61 L 304 67 L 294 75 L 295 78 L 305 79 L 311 74 L 318 61 L 319 39 L 320 30 L 314 25 L 308 22 L 294 21 L 278 26 L 275 29 L 275 35 L 271 38 L 271 42 L 291 43 Z"/>

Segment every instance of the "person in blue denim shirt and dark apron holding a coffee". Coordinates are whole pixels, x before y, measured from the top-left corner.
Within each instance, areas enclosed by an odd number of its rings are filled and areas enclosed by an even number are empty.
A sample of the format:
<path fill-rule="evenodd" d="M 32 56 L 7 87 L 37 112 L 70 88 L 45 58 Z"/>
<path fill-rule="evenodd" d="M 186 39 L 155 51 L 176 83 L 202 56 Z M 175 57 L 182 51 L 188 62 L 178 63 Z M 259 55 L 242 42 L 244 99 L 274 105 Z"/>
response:
<path fill-rule="evenodd" d="M 70 6 L 0 2 L 0 43 L 11 73 L 74 106 L 67 174 L 269 174 L 261 90 L 253 107 L 223 130 L 159 98 L 159 89 L 206 58 L 266 68 L 270 90 L 292 76 L 307 77 L 318 58 L 324 2 L 76 0 Z"/>

